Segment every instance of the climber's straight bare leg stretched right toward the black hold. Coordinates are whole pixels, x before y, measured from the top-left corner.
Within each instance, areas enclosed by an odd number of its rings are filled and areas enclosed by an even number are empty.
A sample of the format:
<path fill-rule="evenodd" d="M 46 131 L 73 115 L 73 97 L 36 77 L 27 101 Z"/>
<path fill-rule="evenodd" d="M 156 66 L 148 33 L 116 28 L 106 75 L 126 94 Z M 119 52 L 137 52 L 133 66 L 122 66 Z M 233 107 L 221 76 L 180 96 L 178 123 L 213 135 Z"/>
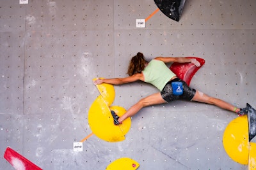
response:
<path fill-rule="evenodd" d="M 192 101 L 198 101 L 198 102 L 207 103 L 207 104 L 214 104 L 215 106 L 218 106 L 225 110 L 233 111 L 236 113 L 237 111 L 240 111 L 240 109 L 236 108 L 236 106 L 233 106 L 232 104 L 222 101 L 221 99 L 207 96 L 206 94 L 199 92 L 198 90 L 196 90 L 196 94 L 193 97 Z"/>

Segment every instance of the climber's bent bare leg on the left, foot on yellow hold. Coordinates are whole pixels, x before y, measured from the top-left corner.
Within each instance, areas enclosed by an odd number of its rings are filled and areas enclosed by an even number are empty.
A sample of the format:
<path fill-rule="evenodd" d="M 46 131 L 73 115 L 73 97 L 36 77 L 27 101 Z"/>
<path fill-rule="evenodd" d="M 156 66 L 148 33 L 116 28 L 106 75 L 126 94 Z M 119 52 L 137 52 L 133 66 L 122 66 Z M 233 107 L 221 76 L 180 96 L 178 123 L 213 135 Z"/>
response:
<path fill-rule="evenodd" d="M 125 118 L 132 117 L 133 115 L 138 113 L 138 111 L 140 111 L 141 108 L 162 103 L 166 103 L 166 101 L 164 101 L 160 93 L 152 94 L 148 97 L 145 97 L 138 101 L 138 103 L 134 104 L 131 108 L 129 108 L 129 110 L 127 110 L 127 112 L 124 115 L 122 115 L 122 117 L 118 118 L 118 122 L 124 121 Z"/>

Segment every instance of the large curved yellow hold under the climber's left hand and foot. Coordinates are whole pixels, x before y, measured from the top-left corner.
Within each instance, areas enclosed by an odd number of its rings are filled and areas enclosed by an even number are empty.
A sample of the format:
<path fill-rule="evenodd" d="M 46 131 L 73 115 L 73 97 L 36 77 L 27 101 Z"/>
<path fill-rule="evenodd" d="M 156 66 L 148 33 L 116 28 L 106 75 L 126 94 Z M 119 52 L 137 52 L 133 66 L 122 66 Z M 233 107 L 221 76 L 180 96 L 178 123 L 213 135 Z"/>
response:
<path fill-rule="evenodd" d="M 115 99 L 115 89 L 113 85 L 102 83 L 96 85 L 100 96 L 93 101 L 88 112 L 88 122 L 93 134 L 98 138 L 117 142 L 125 139 L 125 134 L 131 127 L 131 118 L 127 118 L 120 125 L 114 125 L 111 110 L 115 111 L 119 117 L 124 115 L 125 109 L 120 106 L 111 106 Z"/>

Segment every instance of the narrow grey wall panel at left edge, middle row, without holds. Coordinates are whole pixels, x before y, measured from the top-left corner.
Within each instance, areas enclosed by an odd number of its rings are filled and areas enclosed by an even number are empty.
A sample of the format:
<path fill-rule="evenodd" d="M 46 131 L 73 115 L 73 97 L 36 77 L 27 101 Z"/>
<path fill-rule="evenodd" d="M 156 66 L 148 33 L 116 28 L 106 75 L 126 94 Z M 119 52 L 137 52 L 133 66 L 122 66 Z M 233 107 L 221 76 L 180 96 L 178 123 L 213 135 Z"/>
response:
<path fill-rule="evenodd" d="M 0 35 L 0 113 L 23 113 L 24 33 Z"/>

